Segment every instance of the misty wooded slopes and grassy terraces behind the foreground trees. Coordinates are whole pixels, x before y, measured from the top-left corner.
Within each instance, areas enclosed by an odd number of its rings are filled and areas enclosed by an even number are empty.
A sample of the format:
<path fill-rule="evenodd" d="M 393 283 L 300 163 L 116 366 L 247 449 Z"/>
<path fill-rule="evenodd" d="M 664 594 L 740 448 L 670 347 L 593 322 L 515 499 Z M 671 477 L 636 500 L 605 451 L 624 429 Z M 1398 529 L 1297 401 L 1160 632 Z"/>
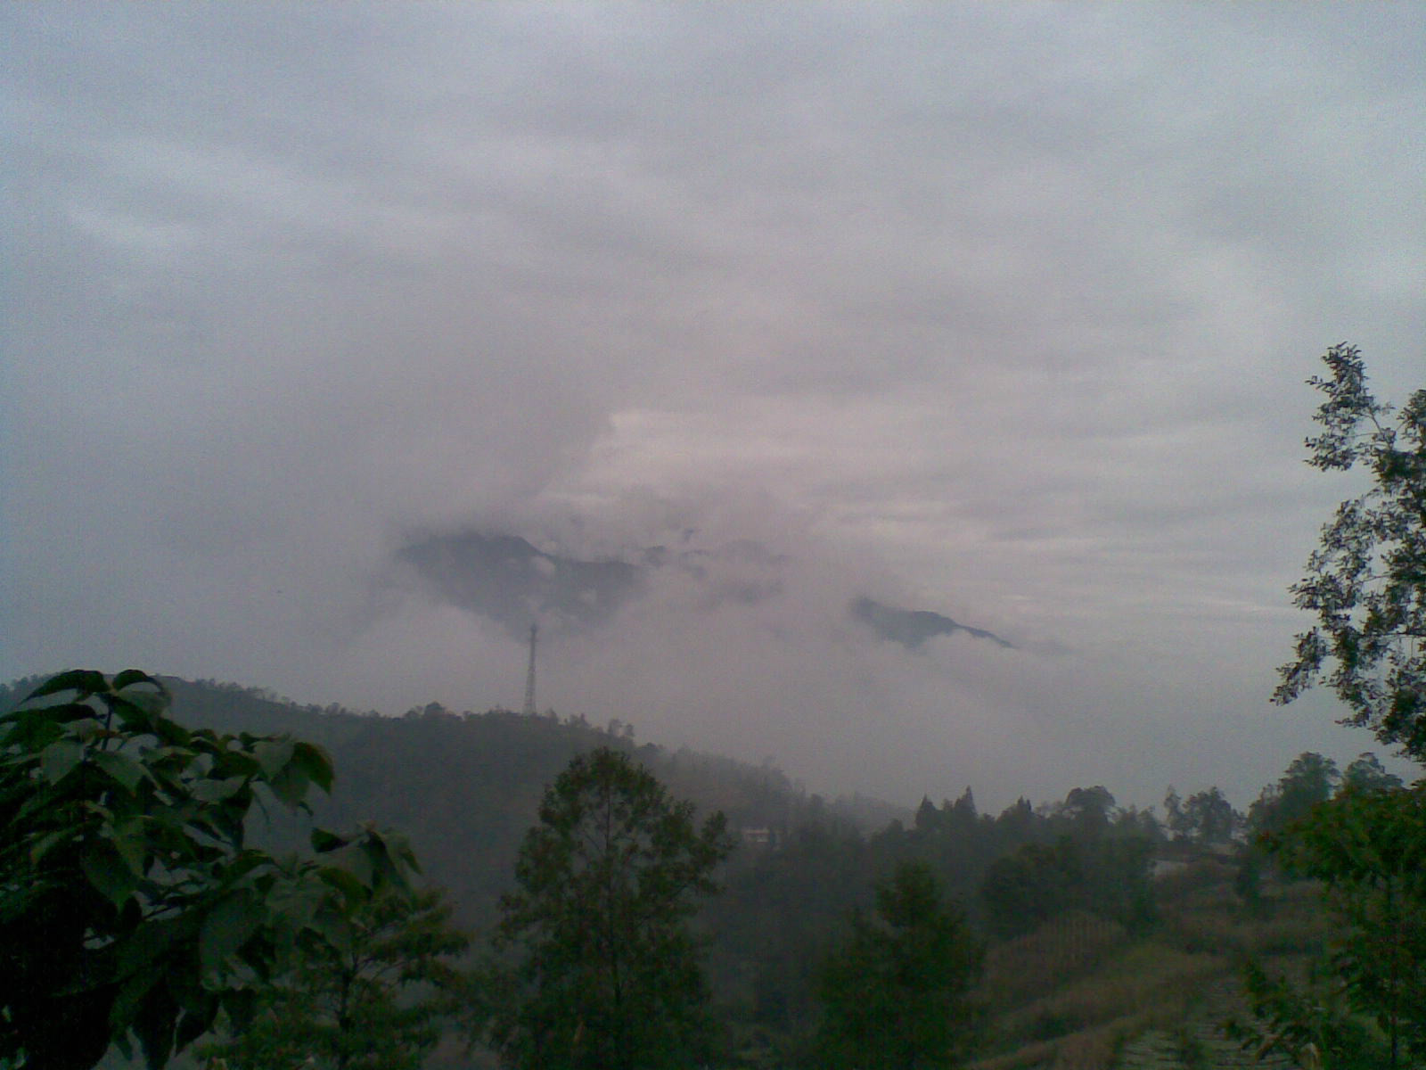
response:
<path fill-rule="evenodd" d="M 0 703 L 14 705 L 37 683 L 10 685 Z M 1242 1007 L 1241 957 L 1252 952 L 1301 969 L 1326 936 L 1312 886 L 1283 880 L 1252 839 L 1343 783 L 1395 782 L 1372 755 L 1345 776 L 1302 755 L 1246 813 L 1216 788 L 1186 798 L 1169 788 L 1159 815 L 1121 807 L 1097 785 L 1062 800 L 1020 799 L 1000 813 L 981 813 L 970 789 L 898 812 L 810 795 L 770 763 L 640 743 L 619 722 L 438 705 L 386 718 L 299 706 L 232 683 L 164 683 L 188 726 L 291 735 L 331 755 L 331 793 L 315 795 L 309 815 L 255 812 L 254 842 L 291 850 L 315 826 L 401 829 L 422 882 L 448 892 L 455 923 L 478 949 L 496 930 L 542 793 L 575 756 L 626 753 L 672 796 L 724 815 L 736 846 L 716 872 L 720 892 L 693 923 L 726 1066 L 809 1057 L 823 1016 L 820 973 L 851 919 L 871 907 L 878 882 L 906 863 L 924 865 L 988 949 L 970 997 L 984 1066 L 1070 1066 L 1081 1056 L 1079 1064 L 1108 1066 L 1155 1036 L 1159 1053 L 1176 1053 L 1184 1066 L 1205 1044 L 1236 1050 L 1218 1026 Z M 431 1066 L 493 1066 L 458 1031 L 449 1027 Z"/>

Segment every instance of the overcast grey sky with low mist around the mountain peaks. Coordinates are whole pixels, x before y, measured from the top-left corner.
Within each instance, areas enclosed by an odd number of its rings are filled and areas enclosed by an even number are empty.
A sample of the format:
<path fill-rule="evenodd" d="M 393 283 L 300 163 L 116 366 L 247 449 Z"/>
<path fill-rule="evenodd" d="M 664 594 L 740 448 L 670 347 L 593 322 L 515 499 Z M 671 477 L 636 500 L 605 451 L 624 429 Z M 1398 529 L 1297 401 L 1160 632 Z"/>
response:
<path fill-rule="evenodd" d="M 0 26 L 4 678 L 518 708 L 402 556 L 479 532 L 702 555 L 549 622 L 539 705 L 814 790 L 1245 806 L 1373 746 L 1268 696 L 1360 486 L 1303 379 L 1426 385 L 1426 6 Z"/>

